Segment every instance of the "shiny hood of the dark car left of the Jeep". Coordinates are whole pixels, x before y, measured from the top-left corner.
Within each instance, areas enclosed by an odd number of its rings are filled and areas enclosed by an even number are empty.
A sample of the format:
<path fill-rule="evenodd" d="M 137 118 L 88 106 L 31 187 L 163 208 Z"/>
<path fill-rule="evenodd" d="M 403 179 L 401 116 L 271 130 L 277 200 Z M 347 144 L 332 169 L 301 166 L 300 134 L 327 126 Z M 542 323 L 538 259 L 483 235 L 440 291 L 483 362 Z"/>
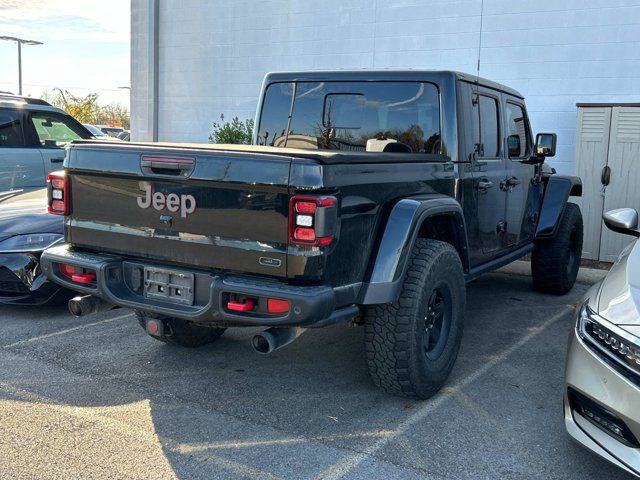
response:
<path fill-rule="evenodd" d="M 0 241 L 27 233 L 63 233 L 63 217 L 47 213 L 47 190 L 0 193 Z"/>

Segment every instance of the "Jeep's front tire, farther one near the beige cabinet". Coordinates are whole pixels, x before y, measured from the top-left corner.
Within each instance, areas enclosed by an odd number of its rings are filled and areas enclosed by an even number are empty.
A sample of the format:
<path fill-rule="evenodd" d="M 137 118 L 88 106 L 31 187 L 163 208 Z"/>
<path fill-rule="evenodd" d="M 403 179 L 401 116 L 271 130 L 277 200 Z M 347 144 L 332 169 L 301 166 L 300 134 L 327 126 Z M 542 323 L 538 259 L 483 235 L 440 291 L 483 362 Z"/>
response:
<path fill-rule="evenodd" d="M 540 240 L 531 255 L 531 274 L 536 290 L 564 295 L 573 288 L 582 256 L 582 214 L 567 203 L 558 220 L 555 237 Z"/>

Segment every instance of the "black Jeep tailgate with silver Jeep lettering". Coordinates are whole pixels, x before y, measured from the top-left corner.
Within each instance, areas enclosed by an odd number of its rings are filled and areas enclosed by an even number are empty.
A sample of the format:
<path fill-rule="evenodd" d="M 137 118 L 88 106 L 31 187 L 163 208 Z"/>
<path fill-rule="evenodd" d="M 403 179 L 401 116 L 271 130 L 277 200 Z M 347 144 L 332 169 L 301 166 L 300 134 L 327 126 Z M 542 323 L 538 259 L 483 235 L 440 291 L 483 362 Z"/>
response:
<path fill-rule="evenodd" d="M 75 246 L 286 276 L 290 158 L 78 145 L 66 160 Z"/>

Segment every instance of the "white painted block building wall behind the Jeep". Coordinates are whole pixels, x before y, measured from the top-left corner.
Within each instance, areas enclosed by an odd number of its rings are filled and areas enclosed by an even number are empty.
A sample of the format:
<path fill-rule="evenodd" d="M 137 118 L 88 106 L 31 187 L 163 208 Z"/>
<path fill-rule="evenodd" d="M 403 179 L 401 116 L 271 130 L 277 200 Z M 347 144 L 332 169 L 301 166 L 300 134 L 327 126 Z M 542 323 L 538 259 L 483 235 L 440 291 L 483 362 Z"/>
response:
<path fill-rule="evenodd" d="M 132 2 L 134 30 L 148 22 L 146 5 Z M 202 142 L 220 113 L 253 117 L 272 70 L 475 73 L 480 9 L 481 0 L 160 0 L 159 139 Z M 146 138 L 147 93 L 135 78 L 148 73 L 147 44 L 133 33 L 132 130 Z M 534 131 L 558 134 L 551 163 L 570 173 L 575 104 L 640 101 L 640 0 L 484 0 L 480 74 L 525 95 Z"/>

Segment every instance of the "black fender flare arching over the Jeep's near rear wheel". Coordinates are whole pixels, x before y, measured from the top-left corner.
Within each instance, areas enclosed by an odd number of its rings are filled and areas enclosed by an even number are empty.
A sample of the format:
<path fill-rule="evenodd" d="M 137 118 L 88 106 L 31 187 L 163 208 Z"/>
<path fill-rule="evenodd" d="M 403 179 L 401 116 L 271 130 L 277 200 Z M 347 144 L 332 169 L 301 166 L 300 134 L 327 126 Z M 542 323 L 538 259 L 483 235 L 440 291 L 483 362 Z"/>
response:
<path fill-rule="evenodd" d="M 460 203 L 455 198 L 440 194 L 404 198 L 394 205 L 389 214 L 358 303 L 375 305 L 397 300 L 420 227 L 429 217 L 439 215 L 451 215 L 455 219 L 458 253 L 465 272 L 468 271 L 467 232 Z"/>

